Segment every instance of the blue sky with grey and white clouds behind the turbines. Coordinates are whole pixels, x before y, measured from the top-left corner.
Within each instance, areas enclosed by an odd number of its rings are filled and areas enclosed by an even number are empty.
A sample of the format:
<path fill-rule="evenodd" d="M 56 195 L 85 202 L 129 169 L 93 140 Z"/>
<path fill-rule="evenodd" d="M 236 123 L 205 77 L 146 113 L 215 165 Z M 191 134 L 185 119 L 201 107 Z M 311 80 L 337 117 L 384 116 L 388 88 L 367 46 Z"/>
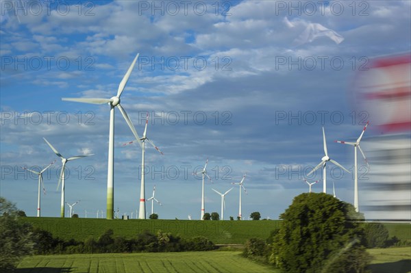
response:
<path fill-rule="evenodd" d="M 65 157 L 66 201 L 92 217 L 106 206 L 108 105 L 62 97 L 110 98 L 137 53 L 121 103 L 146 150 L 146 198 L 160 218 L 200 216 L 209 159 L 206 211 L 247 173 L 242 214 L 277 219 L 323 157 L 353 170 L 353 141 L 373 117 L 356 107 L 353 79 L 374 57 L 409 51 L 410 1 L 1 1 L 0 194 L 36 215 L 37 177 Z M 129 216 L 140 198 L 141 150 L 121 113 L 115 117 L 114 208 Z M 376 131 L 366 134 L 370 136 Z M 366 142 L 366 135 L 364 135 Z M 366 151 L 364 151 L 366 153 Z M 360 166 L 364 161 L 360 161 Z M 42 215 L 59 216 L 61 161 L 45 172 Z M 366 176 L 366 169 L 360 173 Z M 306 177 L 321 179 L 321 170 Z M 329 165 L 338 198 L 353 203 L 351 174 Z M 313 185 L 321 192 L 322 185 Z M 361 198 L 361 197 L 360 197 Z M 238 214 L 238 186 L 225 216 Z M 147 203 L 147 211 L 151 203 Z"/>

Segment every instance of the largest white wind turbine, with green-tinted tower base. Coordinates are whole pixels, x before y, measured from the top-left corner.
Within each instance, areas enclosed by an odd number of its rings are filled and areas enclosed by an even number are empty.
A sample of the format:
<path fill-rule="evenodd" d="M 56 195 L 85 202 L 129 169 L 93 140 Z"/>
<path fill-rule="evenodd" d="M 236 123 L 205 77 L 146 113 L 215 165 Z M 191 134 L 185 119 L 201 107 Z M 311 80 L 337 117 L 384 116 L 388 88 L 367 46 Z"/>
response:
<path fill-rule="evenodd" d="M 138 54 L 134 58 L 132 64 L 129 66 L 127 73 L 125 73 L 123 79 L 119 84 L 119 89 L 117 90 L 116 96 L 112 96 L 110 99 L 90 99 L 90 98 L 62 98 L 62 101 L 76 101 L 79 103 L 92 103 L 92 104 L 104 104 L 108 103 L 110 105 L 110 129 L 109 129 L 109 140 L 108 140 L 108 171 L 107 171 L 107 219 L 113 219 L 114 212 L 114 108 L 118 107 L 121 114 L 123 115 L 127 125 L 132 129 L 134 137 L 138 141 L 138 144 L 142 146 L 140 142 L 140 137 L 134 128 L 132 120 L 125 112 L 125 109 L 120 104 L 120 96 L 123 93 L 125 85 L 129 79 L 130 74 L 136 64 Z"/>

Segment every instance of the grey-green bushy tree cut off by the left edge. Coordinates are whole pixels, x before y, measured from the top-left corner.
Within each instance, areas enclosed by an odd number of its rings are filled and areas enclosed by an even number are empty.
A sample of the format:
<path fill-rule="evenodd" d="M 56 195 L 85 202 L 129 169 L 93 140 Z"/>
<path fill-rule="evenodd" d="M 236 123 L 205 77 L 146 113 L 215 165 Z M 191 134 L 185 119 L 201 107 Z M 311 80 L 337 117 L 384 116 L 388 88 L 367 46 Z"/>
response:
<path fill-rule="evenodd" d="M 16 205 L 0 197 L 0 272 L 11 272 L 34 249 L 32 226 L 18 217 Z"/>

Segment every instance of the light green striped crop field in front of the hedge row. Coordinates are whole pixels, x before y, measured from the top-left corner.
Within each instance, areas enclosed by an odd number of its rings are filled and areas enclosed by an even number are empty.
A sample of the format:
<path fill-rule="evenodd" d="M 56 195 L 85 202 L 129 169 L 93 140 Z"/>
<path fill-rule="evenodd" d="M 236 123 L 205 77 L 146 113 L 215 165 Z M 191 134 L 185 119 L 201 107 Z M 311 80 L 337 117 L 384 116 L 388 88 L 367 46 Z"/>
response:
<path fill-rule="evenodd" d="M 240 257 L 240 252 L 169 252 L 94 255 L 48 255 L 25 258 L 17 273 L 85 272 L 277 272 Z"/>

